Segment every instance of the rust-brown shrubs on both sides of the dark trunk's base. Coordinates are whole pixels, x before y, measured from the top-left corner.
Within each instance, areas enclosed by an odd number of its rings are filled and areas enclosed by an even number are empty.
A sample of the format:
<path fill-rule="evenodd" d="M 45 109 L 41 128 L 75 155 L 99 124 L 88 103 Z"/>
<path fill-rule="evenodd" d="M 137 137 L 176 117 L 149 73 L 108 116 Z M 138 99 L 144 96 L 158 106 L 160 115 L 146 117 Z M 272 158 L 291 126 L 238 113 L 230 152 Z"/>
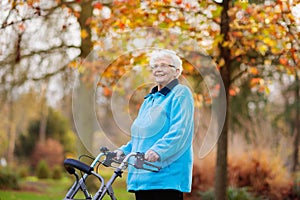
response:
<path fill-rule="evenodd" d="M 214 186 L 215 155 L 195 162 L 193 193 L 208 191 Z M 234 187 L 247 187 L 249 192 L 267 199 L 285 199 L 292 194 L 292 179 L 281 159 L 266 150 L 252 150 L 229 156 L 228 181 Z"/>

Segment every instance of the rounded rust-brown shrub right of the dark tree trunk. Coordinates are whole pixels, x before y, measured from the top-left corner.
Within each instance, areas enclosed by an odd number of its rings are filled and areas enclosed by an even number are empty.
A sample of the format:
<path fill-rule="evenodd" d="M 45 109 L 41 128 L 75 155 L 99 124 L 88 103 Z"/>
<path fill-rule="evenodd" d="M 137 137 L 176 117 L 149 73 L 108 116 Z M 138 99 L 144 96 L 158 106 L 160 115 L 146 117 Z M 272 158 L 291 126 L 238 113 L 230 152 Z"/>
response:
<path fill-rule="evenodd" d="M 292 187 L 287 169 L 267 151 L 252 151 L 229 159 L 229 182 L 268 199 L 286 198 Z"/>

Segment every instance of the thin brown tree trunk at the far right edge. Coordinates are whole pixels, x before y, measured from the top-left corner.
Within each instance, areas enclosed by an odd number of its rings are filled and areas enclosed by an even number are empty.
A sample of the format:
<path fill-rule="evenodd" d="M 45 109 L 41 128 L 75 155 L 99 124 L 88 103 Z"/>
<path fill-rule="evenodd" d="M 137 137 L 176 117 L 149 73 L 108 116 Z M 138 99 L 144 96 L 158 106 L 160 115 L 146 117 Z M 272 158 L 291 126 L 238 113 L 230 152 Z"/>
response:
<path fill-rule="evenodd" d="M 295 88 L 295 102 L 296 102 L 296 118 L 294 121 L 295 124 L 295 135 L 294 135 L 294 143 L 293 143 L 293 166 L 292 172 L 297 171 L 297 166 L 299 163 L 299 139 L 300 139 L 300 81 L 299 76 L 296 72 L 296 88 Z"/>

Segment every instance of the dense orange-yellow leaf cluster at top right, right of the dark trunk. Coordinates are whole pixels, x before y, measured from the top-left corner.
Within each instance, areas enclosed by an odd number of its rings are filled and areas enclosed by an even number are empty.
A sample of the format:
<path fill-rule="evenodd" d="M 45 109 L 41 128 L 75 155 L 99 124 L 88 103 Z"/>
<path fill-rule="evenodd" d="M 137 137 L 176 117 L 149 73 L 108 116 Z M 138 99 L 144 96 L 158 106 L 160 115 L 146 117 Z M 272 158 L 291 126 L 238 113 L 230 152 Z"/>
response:
<path fill-rule="evenodd" d="M 229 40 L 223 43 L 224 47 L 230 48 L 231 58 L 247 56 L 247 52 L 255 51 L 262 59 L 270 59 L 268 56 L 272 54 L 276 60 L 279 59 L 282 67 L 294 67 L 290 66 L 293 63 L 291 60 L 298 60 L 298 56 L 292 52 L 292 41 L 298 40 L 299 34 L 293 32 L 296 29 L 287 26 L 295 24 L 290 8 L 288 12 L 283 12 L 281 6 L 289 4 L 288 1 L 278 2 L 270 5 L 248 4 L 246 7 L 235 3 L 229 12 L 232 19 Z M 257 61 L 243 59 L 245 64 L 251 66 L 257 65 Z"/>

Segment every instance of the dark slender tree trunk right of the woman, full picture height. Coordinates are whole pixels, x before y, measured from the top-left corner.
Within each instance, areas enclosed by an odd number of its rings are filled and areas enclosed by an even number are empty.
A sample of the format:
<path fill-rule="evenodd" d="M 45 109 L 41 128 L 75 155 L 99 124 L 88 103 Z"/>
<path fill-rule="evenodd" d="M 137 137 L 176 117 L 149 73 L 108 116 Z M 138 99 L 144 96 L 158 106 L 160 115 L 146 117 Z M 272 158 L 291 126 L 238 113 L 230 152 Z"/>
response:
<path fill-rule="evenodd" d="M 229 1 L 225 0 L 222 3 L 223 10 L 221 13 L 221 34 L 224 36 L 223 42 L 228 40 L 229 32 Z M 226 106 L 226 117 L 224 126 L 217 144 L 217 161 L 216 161 L 216 178 L 215 178 L 215 199 L 227 199 L 227 150 L 228 150 L 228 108 L 229 108 L 229 87 L 230 87 L 230 50 L 219 44 L 220 58 L 224 59 L 225 65 L 220 69 L 221 77 L 223 79 L 226 102 L 219 102 L 219 106 Z M 221 128 L 221 127 L 219 127 Z"/>

